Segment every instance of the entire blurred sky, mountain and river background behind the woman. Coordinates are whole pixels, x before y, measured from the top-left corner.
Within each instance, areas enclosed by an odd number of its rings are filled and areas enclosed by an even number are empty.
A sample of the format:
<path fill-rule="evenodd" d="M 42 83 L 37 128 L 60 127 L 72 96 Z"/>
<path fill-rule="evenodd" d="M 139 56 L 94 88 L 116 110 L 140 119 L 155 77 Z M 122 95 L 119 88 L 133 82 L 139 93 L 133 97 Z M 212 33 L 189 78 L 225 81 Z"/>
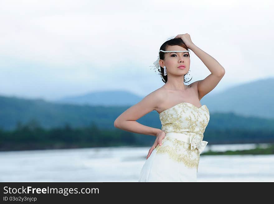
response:
<path fill-rule="evenodd" d="M 273 4 L 2 0 L 0 182 L 137 182 L 155 137 L 113 123 L 163 86 L 149 65 L 185 33 L 225 69 L 201 99 L 197 181 L 273 182 Z M 190 59 L 189 83 L 210 74 Z M 157 111 L 137 121 L 161 128 Z"/>

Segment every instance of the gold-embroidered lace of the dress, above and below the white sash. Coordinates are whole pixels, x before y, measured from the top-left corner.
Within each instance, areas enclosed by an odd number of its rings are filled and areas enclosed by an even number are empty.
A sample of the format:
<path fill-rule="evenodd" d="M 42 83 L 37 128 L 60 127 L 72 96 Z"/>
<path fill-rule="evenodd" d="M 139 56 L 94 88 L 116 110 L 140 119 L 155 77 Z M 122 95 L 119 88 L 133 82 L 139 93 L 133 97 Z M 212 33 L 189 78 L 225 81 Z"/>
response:
<path fill-rule="evenodd" d="M 196 107 L 191 103 L 179 103 L 168 108 L 159 114 L 162 123 L 162 130 L 165 133 L 176 132 L 183 133 L 195 138 L 196 141 L 202 141 L 205 128 L 208 125 L 210 115 L 206 105 Z M 194 140 L 193 140 L 194 141 Z M 205 143 L 207 143 L 205 141 Z M 162 145 L 156 146 L 157 154 L 169 154 L 170 158 L 176 162 L 183 162 L 189 168 L 196 168 L 200 161 L 198 149 L 192 149 L 191 144 L 165 136 Z"/>

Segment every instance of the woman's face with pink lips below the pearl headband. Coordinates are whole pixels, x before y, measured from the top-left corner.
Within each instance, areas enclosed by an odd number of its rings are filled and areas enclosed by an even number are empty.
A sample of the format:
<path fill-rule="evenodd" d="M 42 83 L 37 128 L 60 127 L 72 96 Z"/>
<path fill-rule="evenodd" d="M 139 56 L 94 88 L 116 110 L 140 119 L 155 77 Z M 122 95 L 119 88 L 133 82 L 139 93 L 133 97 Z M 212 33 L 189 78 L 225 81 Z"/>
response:
<path fill-rule="evenodd" d="M 178 45 L 172 45 L 168 46 L 166 51 L 186 51 L 186 49 Z M 167 73 L 173 75 L 185 75 L 188 73 L 190 67 L 188 52 L 167 52 L 164 55 L 165 59 L 160 59 L 159 64 L 161 67 L 167 67 Z M 178 66 L 180 65 L 185 65 L 186 68 L 179 69 Z"/>

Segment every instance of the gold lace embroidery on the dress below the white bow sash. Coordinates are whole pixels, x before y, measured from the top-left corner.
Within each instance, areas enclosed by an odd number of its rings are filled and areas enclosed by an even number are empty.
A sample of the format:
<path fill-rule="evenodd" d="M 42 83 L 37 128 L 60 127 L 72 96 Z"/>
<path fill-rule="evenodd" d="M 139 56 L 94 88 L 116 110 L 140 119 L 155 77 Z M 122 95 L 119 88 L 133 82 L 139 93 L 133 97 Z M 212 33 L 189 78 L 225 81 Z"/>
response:
<path fill-rule="evenodd" d="M 171 145 L 166 144 L 165 141 L 171 142 Z M 196 171 L 198 172 L 200 155 L 197 149 L 191 150 L 190 144 L 175 138 L 164 137 L 162 140 L 162 145 L 157 145 L 155 149 L 157 154 L 167 153 L 170 159 L 177 162 L 183 162 L 186 167 L 196 168 Z"/>

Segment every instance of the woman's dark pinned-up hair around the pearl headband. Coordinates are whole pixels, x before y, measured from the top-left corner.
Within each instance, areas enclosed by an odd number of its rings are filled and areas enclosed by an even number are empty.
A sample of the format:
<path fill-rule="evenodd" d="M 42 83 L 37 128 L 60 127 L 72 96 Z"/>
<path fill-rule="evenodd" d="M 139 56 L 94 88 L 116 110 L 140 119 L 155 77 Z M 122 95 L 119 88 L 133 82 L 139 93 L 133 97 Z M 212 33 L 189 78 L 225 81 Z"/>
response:
<path fill-rule="evenodd" d="M 188 50 L 187 45 L 183 42 L 182 38 L 173 38 L 171 40 L 168 40 L 168 41 L 164 42 L 163 45 L 160 47 L 160 50 L 165 50 L 166 51 L 166 49 L 167 49 L 167 47 L 169 45 L 170 46 L 172 46 L 172 45 L 179 45 L 179 46 L 185 48 L 186 50 Z M 165 54 L 166 53 L 164 53 L 164 52 L 160 52 L 160 59 L 164 60 L 165 59 Z M 188 52 L 188 55 L 189 55 L 189 52 Z M 189 55 L 189 57 L 190 57 L 190 55 Z M 158 69 L 158 72 L 160 72 L 159 74 L 160 74 L 160 76 L 162 78 L 162 81 L 164 83 L 167 83 L 167 81 L 168 81 L 168 75 L 164 76 L 164 68 L 160 66 L 160 69 Z"/>

